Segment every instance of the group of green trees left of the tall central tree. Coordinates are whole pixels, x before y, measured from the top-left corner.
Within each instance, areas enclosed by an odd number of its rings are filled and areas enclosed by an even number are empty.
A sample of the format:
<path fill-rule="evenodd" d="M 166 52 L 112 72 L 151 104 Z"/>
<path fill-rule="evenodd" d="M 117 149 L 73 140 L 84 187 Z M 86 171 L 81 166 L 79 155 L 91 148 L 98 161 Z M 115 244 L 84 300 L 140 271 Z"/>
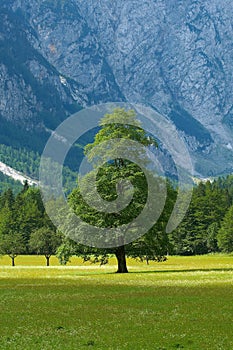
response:
<path fill-rule="evenodd" d="M 0 196 L 0 253 L 10 256 L 12 266 L 19 254 L 44 254 L 49 265 L 61 242 L 38 189 L 25 183 L 18 195 L 8 189 Z"/>

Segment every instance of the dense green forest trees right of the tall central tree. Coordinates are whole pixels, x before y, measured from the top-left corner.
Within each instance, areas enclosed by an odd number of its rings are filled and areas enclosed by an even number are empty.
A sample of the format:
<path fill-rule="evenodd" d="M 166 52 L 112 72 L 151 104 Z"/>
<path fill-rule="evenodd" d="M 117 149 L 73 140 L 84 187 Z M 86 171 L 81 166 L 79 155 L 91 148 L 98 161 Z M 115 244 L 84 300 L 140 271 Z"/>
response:
<path fill-rule="evenodd" d="M 170 235 L 171 253 L 194 255 L 233 251 L 233 176 L 194 188 L 179 227 Z"/>

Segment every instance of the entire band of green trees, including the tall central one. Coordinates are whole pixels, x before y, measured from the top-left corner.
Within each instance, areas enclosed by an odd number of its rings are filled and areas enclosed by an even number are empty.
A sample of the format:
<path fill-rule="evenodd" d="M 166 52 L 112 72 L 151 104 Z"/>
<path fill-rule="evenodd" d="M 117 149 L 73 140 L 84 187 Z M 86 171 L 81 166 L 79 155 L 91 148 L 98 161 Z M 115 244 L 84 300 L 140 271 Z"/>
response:
<path fill-rule="evenodd" d="M 124 125 L 121 121 L 124 121 Z M 98 160 L 101 152 L 108 152 L 109 159 L 114 161 L 106 162 L 100 167 L 96 177 L 98 191 L 106 201 L 116 200 L 117 196 L 129 190 L 126 182 L 119 182 L 119 179 L 123 178 L 130 180 L 133 185 L 133 198 L 129 205 L 118 213 L 101 212 L 90 208 L 83 199 L 79 186 L 71 192 L 69 203 L 83 221 L 97 227 L 117 230 L 119 225 L 131 222 L 143 210 L 148 195 L 148 184 L 138 165 L 124 158 L 111 157 L 113 149 L 106 148 L 103 142 L 121 137 L 135 140 L 144 146 L 156 146 L 156 141 L 141 129 L 133 111 L 116 109 L 102 119 L 100 127 L 94 142 L 85 147 L 85 153 L 89 159 L 97 157 Z M 95 153 L 96 146 L 98 154 Z M 138 154 L 138 150 L 134 150 L 133 146 L 131 151 L 143 161 L 146 159 L 143 151 Z M 92 176 L 93 174 L 89 173 L 83 178 L 84 187 L 88 187 Z M 158 181 L 161 185 L 165 183 L 164 179 Z M 119 240 L 122 244 L 111 249 L 90 248 L 57 232 L 44 210 L 38 189 L 29 188 L 26 183 L 16 196 L 11 190 L 7 190 L 0 196 L 0 252 L 11 257 L 12 265 L 18 254 L 44 254 L 47 265 L 50 256 L 55 253 L 62 264 L 66 264 L 72 255 L 82 256 L 84 261 L 92 260 L 104 264 L 110 255 L 115 254 L 118 262 L 117 272 L 123 273 L 127 272 L 126 256 L 148 262 L 164 260 L 167 254 L 194 255 L 233 251 L 233 176 L 220 178 L 213 183 L 200 183 L 193 191 L 184 220 L 169 235 L 166 233 L 166 225 L 177 192 L 169 181 L 166 181 L 166 187 L 166 203 L 156 224 L 144 236 L 127 245 L 124 244 L 123 234 L 120 234 Z M 87 191 L 90 202 L 95 195 L 93 190 L 89 188 Z M 85 225 L 80 225 L 76 230 L 81 236 L 83 231 Z"/>

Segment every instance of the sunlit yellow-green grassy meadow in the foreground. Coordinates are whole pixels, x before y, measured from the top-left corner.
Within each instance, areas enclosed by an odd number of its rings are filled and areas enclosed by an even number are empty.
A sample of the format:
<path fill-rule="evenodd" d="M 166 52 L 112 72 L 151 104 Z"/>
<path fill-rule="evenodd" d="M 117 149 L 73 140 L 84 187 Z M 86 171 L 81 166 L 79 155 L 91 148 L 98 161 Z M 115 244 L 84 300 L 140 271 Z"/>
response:
<path fill-rule="evenodd" d="M 9 263 L 0 258 L 0 349 L 233 349 L 233 256 L 129 260 L 126 275 L 114 259 Z"/>

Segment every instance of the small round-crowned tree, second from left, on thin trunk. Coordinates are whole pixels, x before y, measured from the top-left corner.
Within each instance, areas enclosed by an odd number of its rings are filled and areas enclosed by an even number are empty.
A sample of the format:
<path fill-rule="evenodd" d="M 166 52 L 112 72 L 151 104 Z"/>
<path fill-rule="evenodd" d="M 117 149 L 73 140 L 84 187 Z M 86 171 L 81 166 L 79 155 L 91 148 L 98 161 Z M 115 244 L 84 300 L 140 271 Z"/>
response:
<path fill-rule="evenodd" d="M 56 250 L 62 242 L 62 236 L 47 227 L 41 227 L 31 234 L 29 247 L 32 252 L 43 254 L 46 264 L 49 266 L 51 255 L 56 254 Z"/>

